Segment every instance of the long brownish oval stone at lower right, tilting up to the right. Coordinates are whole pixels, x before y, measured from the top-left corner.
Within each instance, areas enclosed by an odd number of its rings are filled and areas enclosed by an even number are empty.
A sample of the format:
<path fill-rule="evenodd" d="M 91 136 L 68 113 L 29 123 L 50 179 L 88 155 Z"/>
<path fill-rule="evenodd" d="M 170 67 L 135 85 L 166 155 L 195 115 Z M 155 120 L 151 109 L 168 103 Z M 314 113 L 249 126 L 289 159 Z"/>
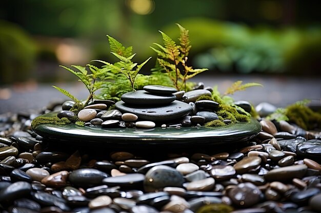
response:
<path fill-rule="evenodd" d="M 264 178 L 268 181 L 286 181 L 295 177 L 302 178 L 307 172 L 307 169 L 308 167 L 305 164 L 290 165 L 288 167 L 271 170 Z"/>

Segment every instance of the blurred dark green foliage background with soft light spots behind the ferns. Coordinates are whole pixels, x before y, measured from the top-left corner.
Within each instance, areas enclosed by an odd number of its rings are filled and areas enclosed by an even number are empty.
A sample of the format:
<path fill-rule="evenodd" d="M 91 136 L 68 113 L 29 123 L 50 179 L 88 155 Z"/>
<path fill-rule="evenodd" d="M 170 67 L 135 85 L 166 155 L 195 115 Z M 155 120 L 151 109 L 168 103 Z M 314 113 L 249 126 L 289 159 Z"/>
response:
<path fill-rule="evenodd" d="M 319 75 L 317 1 L 294 0 L 2 0 L 0 83 L 70 80 L 58 64 L 113 62 L 106 34 L 132 45 L 154 66 L 158 30 L 190 31 L 191 65 L 220 73 Z"/>

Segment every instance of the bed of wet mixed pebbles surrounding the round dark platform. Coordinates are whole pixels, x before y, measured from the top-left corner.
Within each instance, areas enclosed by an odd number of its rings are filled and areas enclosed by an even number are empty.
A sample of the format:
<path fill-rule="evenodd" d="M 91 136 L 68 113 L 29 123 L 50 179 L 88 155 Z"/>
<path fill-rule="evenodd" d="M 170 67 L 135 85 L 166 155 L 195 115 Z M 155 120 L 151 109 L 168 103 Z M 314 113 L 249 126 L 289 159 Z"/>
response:
<path fill-rule="evenodd" d="M 0 115 L 2 213 L 321 212 L 320 132 L 262 119 L 220 148 L 55 146 L 30 124 L 61 104 Z"/>

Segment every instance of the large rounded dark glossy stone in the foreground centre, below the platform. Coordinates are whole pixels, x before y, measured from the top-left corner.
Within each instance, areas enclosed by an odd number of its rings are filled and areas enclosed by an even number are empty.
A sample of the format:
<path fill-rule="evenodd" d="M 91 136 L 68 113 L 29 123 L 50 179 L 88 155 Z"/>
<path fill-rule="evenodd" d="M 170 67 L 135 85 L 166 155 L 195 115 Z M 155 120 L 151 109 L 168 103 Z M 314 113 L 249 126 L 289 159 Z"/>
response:
<path fill-rule="evenodd" d="M 184 177 L 177 170 L 167 165 L 156 165 L 150 169 L 144 180 L 144 187 L 147 192 L 154 192 L 166 186 L 181 187 Z"/>

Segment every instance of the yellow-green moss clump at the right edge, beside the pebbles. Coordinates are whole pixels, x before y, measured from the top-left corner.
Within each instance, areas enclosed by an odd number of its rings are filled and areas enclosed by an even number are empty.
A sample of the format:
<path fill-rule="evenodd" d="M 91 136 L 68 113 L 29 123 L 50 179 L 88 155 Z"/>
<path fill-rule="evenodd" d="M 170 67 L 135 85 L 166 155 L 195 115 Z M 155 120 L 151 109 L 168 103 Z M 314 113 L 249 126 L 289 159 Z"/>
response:
<path fill-rule="evenodd" d="M 290 122 L 297 124 L 305 130 L 321 127 L 321 114 L 314 112 L 305 105 L 293 104 L 286 108 L 286 116 Z"/>

